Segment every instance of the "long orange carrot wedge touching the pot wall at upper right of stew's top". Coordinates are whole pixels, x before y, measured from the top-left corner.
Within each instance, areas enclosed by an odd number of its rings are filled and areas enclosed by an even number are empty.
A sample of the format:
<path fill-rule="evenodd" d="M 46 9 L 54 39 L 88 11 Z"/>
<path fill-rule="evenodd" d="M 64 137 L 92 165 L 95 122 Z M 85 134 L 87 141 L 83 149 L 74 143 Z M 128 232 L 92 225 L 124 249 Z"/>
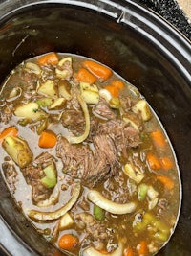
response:
<path fill-rule="evenodd" d="M 112 75 L 112 70 L 110 68 L 103 66 L 92 60 L 84 61 L 83 66 L 102 81 L 106 81 Z"/>

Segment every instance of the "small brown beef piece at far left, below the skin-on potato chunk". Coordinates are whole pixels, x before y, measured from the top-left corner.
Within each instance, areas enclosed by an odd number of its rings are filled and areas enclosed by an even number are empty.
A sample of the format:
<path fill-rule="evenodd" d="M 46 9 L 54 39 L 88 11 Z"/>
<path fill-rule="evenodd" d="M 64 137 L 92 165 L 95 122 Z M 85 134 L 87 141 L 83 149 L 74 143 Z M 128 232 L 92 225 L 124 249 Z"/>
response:
<path fill-rule="evenodd" d="M 7 162 L 2 164 L 2 168 L 3 168 L 4 174 L 5 174 L 6 180 L 10 186 L 11 192 L 14 193 L 15 189 L 16 189 L 15 183 L 18 180 L 17 179 L 18 173 L 17 173 L 14 165 L 11 165 Z"/>

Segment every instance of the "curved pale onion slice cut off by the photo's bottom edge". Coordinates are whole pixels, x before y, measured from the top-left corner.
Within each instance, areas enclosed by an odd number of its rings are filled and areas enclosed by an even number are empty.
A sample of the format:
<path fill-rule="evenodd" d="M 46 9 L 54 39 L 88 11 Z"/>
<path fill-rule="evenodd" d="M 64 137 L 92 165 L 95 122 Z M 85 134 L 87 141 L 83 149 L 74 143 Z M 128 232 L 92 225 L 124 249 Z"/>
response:
<path fill-rule="evenodd" d="M 118 247 L 115 251 L 107 253 L 108 256 L 122 256 L 123 254 L 123 244 L 118 242 Z M 94 247 L 88 247 L 82 252 L 81 256 L 105 256 L 105 253 L 97 251 Z"/>

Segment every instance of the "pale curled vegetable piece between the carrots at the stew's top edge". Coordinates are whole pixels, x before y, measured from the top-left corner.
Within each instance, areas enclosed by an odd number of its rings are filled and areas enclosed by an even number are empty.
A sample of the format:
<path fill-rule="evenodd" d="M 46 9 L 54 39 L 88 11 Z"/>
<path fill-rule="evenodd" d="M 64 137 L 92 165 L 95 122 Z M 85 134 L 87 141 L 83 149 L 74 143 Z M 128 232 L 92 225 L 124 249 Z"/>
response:
<path fill-rule="evenodd" d="M 68 64 L 67 68 L 64 68 L 64 65 Z M 71 57 L 66 57 L 62 58 L 58 62 L 58 67 L 55 69 L 55 74 L 57 78 L 59 79 L 66 79 L 70 75 L 69 67 L 72 68 L 72 58 Z"/>

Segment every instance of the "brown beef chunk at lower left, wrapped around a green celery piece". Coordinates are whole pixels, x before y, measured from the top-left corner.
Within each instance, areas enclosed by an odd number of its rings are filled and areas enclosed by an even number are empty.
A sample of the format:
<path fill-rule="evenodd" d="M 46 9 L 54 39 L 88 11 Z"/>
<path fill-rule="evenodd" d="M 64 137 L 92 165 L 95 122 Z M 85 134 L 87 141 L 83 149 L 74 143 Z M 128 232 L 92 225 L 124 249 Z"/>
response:
<path fill-rule="evenodd" d="M 47 188 L 41 182 L 41 178 L 45 176 L 43 169 L 50 163 L 53 163 L 53 156 L 44 152 L 23 170 L 27 183 L 32 186 L 32 201 L 34 203 L 49 198 L 53 193 L 53 188 Z"/>

